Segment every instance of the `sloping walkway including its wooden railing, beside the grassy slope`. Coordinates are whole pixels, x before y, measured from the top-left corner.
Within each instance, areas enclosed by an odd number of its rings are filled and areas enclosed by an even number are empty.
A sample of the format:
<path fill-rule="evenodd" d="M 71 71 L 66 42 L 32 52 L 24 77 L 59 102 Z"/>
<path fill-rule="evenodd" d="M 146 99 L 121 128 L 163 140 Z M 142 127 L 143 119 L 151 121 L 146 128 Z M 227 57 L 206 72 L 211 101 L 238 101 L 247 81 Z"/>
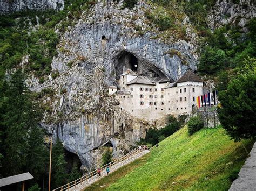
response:
<path fill-rule="evenodd" d="M 126 155 L 124 155 L 122 158 L 120 159 L 116 159 L 112 162 L 110 162 L 109 164 L 106 164 L 102 167 L 100 167 L 102 169 L 102 173 L 100 176 L 97 176 L 97 170 L 92 171 L 88 174 L 85 174 L 84 176 L 82 176 L 80 179 L 77 179 L 73 182 L 70 182 L 66 185 L 63 185 L 62 187 L 56 188 L 53 191 L 57 191 L 57 190 L 83 190 L 86 187 L 90 186 L 92 183 L 102 179 L 104 176 L 107 175 L 106 173 L 106 167 L 109 166 L 110 167 L 110 173 L 116 171 L 118 168 L 129 164 L 130 162 L 142 157 L 144 154 L 149 153 L 150 150 L 139 150 L 139 147 L 135 148 L 134 150 L 132 150 L 131 152 L 127 153 Z"/>

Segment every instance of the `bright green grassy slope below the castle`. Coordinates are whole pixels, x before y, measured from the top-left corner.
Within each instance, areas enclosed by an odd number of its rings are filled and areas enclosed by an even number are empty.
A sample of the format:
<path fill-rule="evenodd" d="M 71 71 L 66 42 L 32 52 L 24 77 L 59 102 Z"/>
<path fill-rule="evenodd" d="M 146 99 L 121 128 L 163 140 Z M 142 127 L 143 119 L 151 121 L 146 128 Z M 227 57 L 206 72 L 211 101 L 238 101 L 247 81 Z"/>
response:
<path fill-rule="evenodd" d="M 250 151 L 253 141 L 234 143 L 221 128 L 202 129 L 188 136 L 183 128 L 142 159 L 87 189 L 228 190 L 247 157 L 242 144 Z"/>

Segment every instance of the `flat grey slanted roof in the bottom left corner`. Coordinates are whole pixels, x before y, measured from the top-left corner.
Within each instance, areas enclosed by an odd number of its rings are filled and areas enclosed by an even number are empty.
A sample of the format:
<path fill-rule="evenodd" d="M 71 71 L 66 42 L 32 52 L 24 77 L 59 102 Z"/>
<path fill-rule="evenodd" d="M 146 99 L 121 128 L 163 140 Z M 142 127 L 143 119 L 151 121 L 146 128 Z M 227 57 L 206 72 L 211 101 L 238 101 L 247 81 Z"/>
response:
<path fill-rule="evenodd" d="M 33 179 L 33 176 L 29 172 L 14 175 L 14 176 L 9 176 L 9 177 L 0 179 L 0 187 L 12 185 L 13 183 L 23 182 L 25 180 L 30 180 L 30 179 Z"/>

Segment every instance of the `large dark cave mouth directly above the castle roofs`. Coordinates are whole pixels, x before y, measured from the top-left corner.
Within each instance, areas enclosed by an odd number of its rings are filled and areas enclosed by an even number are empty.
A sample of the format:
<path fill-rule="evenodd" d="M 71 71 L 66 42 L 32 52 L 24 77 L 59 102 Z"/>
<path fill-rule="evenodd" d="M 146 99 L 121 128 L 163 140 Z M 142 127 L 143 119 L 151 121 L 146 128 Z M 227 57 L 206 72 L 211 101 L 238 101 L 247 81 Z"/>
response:
<path fill-rule="evenodd" d="M 120 75 L 127 69 L 131 69 L 138 75 L 144 75 L 148 77 L 166 77 L 156 66 L 152 65 L 146 60 L 141 60 L 128 51 L 121 51 L 114 59 L 114 72 L 116 79 L 120 79 Z"/>

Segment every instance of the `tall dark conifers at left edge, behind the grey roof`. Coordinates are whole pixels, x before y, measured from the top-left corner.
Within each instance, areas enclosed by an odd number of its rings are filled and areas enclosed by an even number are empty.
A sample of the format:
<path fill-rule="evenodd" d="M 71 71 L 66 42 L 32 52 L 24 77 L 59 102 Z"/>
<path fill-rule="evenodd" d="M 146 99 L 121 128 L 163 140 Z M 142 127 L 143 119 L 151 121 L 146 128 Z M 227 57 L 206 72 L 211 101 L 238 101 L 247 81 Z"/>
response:
<path fill-rule="evenodd" d="M 8 80 L 3 76 L 0 77 L 1 176 L 29 171 L 35 177 L 28 181 L 31 186 L 42 181 L 46 174 L 48 152 L 44 146 L 44 132 L 38 127 L 42 111 L 33 101 L 21 69 Z"/>

